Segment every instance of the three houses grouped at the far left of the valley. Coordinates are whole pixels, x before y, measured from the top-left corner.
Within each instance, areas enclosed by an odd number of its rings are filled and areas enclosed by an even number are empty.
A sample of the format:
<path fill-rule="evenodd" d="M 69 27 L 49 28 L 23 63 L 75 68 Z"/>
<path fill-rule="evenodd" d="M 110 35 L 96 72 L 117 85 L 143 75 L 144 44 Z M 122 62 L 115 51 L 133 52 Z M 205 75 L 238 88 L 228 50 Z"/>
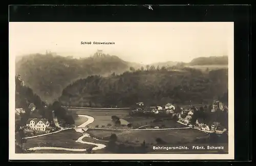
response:
<path fill-rule="evenodd" d="M 34 103 L 30 103 L 28 106 L 30 112 L 36 110 L 36 106 Z M 22 113 L 26 113 L 23 108 L 16 108 L 15 114 L 20 115 Z M 46 118 L 29 118 L 26 122 L 26 126 L 24 126 L 26 130 L 35 130 L 35 131 L 48 131 L 51 130 L 50 123 Z"/>

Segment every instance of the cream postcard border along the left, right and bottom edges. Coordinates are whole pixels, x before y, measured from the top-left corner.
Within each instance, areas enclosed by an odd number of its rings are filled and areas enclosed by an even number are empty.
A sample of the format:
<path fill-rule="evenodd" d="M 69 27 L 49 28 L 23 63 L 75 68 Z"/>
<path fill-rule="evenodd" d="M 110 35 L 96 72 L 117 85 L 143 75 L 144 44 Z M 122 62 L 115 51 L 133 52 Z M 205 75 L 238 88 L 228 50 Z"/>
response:
<path fill-rule="evenodd" d="M 12 22 L 9 22 L 9 27 Z M 105 22 L 110 23 L 110 22 Z M 145 22 L 146 23 L 146 22 Z M 218 23 L 218 22 L 215 22 Z M 228 42 L 228 154 L 15 154 L 15 57 L 9 48 L 9 160 L 190 160 L 190 159 L 234 159 L 234 23 Z M 10 31 L 9 31 L 10 36 Z M 9 45 L 10 45 L 9 40 Z"/>

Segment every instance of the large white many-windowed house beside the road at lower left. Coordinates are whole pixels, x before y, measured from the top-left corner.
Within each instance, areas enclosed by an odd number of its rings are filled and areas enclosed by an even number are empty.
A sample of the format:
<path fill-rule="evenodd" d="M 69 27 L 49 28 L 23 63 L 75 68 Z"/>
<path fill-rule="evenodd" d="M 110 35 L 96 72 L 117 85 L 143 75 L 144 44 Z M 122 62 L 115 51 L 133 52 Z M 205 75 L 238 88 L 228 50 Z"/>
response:
<path fill-rule="evenodd" d="M 26 126 L 29 126 L 32 130 L 46 131 L 46 128 L 50 126 L 50 123 L 45 118 L 29 118 Z"/>

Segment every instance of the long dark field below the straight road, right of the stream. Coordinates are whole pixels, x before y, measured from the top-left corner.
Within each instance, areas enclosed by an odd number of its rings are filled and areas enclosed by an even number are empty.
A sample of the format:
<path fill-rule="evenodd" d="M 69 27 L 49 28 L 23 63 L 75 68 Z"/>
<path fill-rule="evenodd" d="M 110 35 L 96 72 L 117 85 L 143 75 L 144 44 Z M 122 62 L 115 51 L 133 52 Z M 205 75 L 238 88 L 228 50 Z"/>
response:
<path fill-rule="evenodd" d="M 188 144 L 194 142 L 197 137 L 204 137 L 207 134 L 194 129 L 183 130 L 88 130 L 92 137 L 108 140 L 112 133 L 117 135 L 117 139 L 122 143 L 141 144 L 145 140 L 146 144 L 156 144 L 157 138 L 162 139 L 167 144 Z"/>

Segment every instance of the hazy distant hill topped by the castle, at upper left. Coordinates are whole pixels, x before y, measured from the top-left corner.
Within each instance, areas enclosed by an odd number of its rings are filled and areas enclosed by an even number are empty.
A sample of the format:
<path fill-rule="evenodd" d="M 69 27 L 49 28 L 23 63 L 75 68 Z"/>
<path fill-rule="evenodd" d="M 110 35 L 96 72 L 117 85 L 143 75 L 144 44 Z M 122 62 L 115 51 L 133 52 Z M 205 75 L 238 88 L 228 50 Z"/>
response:
<path fill-rule="evenodd" d="M 117 56 L 98 55 L 74 59 L 52 54 L 32 54 L 19 57 L 16 74 L 47 103 L 57 99 L 68 84 L 90 75 L 108 76 L 129 70 L 133 63 L 125 62 Z"/>

